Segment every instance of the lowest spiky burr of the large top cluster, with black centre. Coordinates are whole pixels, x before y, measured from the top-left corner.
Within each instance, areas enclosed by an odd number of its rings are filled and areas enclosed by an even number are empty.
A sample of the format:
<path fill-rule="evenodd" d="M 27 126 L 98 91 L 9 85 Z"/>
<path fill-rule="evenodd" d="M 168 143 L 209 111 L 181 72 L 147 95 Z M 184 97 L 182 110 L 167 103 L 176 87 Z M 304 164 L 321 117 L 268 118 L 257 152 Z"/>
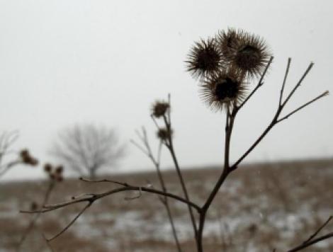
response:
<path fill-rule="evenodd" d="M 244 98 L 244 75 L 235 69 L 226 69 L 210 76 L 201 86 L 201 98 L 214 111 L 238 105 Z"/>

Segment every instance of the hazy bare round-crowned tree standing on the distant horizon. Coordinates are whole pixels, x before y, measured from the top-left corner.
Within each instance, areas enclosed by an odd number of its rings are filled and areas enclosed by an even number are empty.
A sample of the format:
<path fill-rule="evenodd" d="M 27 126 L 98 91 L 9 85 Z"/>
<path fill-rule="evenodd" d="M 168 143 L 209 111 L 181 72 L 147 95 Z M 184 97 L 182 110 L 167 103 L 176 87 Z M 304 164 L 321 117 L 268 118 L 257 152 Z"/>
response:
<path fill-rule="evenodd" d="M 50 153 L 81 176 L 115 165 L 124 154 L 117 132 L 96 125 L 74 125 L 62 130 Z"/>

